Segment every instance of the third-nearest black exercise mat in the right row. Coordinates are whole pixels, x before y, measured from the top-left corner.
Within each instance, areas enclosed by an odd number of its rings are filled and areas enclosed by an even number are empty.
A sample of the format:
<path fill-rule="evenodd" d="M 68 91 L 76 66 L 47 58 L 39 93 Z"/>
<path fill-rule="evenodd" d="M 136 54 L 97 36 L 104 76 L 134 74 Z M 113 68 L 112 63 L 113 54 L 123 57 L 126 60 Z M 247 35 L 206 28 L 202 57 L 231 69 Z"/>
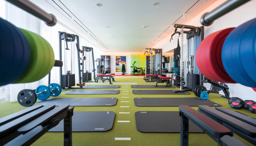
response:
<path fill-rule="evenodd" d="M 133 90 L 133 94 L 189 94 L 187 92 L 173 93 L 173 90 Z"/>

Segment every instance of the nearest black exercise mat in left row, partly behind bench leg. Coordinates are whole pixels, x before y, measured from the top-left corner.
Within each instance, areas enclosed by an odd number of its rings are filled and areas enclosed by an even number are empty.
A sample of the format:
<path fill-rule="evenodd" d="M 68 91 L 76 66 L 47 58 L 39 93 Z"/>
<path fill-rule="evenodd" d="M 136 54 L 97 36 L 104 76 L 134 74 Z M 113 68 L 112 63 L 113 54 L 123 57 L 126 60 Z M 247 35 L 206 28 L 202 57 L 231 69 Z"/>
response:
<path fill-rule="evenodd" d="M 74 112 L 72 116 L 72 132 L 104 132 L 112 128 L 114 112 Z M 48 132 L 63 132 L 63 120 Z"/>

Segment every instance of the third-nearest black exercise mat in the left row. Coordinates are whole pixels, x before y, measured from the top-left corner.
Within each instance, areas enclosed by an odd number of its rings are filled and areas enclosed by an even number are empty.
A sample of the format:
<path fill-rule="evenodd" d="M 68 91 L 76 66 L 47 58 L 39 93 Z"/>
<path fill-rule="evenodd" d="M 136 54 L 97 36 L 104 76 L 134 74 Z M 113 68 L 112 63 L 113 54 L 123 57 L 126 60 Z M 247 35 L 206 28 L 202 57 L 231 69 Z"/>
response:
<path fill-rule="evenodd" d="M 71 90 L 65 94 L 119 94 L 120 90 Z"/>

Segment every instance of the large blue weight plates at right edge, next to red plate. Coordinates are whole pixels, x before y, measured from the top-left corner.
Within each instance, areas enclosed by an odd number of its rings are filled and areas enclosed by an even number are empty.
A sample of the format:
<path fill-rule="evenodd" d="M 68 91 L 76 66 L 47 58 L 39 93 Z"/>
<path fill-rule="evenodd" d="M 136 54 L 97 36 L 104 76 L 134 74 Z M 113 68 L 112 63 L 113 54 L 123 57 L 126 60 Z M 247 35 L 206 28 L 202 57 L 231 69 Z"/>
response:
<path fill-rule="evenodd" d="M 256 19 L 235 28 L 223 44 L 223 66 L 237 83 L 256 87 Z"/>

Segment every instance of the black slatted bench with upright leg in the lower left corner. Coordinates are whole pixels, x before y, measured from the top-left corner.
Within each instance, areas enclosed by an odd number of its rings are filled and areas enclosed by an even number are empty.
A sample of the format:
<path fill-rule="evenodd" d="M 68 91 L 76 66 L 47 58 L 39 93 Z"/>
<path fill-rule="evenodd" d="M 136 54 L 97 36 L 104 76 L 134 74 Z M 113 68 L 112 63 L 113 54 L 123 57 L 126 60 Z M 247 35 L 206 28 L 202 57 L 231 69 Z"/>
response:
<path fill-rule="evenodd" d="M 74 107 L 34 105 L 0 118 L 0 145 L 29 146 L 64 119 L 64 146 L 72 146 Z"/>

